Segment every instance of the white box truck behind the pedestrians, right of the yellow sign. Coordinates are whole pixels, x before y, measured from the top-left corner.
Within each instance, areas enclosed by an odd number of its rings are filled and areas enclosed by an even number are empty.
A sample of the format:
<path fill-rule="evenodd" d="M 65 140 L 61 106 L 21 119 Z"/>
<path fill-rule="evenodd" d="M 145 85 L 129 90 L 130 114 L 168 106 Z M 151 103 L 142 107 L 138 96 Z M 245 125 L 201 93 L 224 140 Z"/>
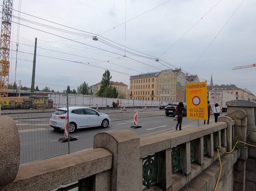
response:
<path fill-rule="evenodd" d="M 213 107 L 215 103 L 218 103 L 222 112 L 227 112 L 226 102 L 231 100 L 236 100 L 236 95 L 223 91 L 208 91 L 208 101 L 210 101 L 211 106 Z"/>

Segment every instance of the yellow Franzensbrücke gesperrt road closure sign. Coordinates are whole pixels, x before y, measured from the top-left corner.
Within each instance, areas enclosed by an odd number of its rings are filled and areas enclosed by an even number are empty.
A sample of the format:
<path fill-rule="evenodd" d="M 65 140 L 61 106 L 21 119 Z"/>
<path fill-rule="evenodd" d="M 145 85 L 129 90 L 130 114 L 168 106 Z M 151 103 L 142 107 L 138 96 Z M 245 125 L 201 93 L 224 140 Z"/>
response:
<path fill-rule="evenodd" d="M 187 118 L 208 119 L 207 83 L 186 84 Z"/>

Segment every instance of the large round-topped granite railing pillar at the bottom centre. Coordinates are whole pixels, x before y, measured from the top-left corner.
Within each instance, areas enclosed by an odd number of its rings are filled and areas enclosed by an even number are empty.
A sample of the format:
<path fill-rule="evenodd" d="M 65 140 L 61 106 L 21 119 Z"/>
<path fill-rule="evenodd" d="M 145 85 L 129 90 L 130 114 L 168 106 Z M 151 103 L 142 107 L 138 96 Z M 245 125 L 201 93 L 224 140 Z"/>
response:
<path fill-rule="evenodd" d="M 101 132 L 94 136 L 94 148 L 99 147 L 113 154 L 111 191 L 141 190 L 139 136 L 130 130 Z"/>

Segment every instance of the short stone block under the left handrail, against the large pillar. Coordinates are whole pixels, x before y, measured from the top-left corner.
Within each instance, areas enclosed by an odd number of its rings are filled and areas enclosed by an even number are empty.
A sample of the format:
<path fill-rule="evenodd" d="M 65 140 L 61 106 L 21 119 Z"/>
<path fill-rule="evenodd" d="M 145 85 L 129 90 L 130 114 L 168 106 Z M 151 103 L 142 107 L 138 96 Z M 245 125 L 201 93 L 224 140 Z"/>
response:
<path fill-rule="evenodd" d="M 95 175 L 95 190 L 110 191 L 111 171 L 105 171 Z"/>

